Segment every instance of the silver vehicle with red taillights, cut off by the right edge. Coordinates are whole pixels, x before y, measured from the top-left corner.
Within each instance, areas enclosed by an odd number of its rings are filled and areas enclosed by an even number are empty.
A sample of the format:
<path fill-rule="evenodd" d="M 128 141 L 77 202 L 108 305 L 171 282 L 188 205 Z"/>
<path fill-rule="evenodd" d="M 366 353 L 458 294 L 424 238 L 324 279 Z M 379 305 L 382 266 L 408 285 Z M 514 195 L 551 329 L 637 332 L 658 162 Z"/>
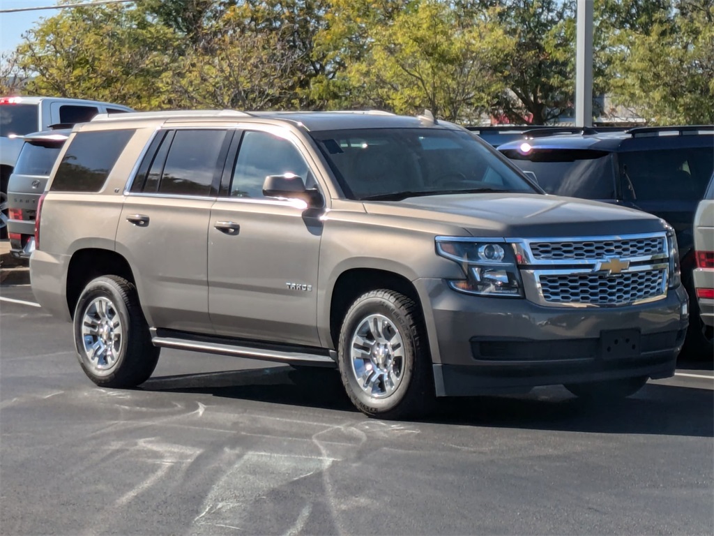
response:
<path fill-rule="evenodd" d="M 694 287 L 703 322 L 714 326 L 714 174 L 694 216 Z M 710 356 L 714 357 L 714 356 Z"/>

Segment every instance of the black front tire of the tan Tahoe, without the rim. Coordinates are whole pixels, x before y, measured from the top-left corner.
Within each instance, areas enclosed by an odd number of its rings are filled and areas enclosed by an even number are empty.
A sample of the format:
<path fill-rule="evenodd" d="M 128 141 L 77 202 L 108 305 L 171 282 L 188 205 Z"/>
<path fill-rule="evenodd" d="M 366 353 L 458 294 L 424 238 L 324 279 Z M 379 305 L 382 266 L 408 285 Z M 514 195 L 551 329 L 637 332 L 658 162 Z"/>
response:
<path fill-rule="evenodd" d="M 383 397 L 375 397 L 361 387 L 351 357 L 353 336 L 371 315 L 386 317 L 403 342 L 403 356 L 398 358 L 401 380 L 393 392 Z M 433 374 L 423 319 L 418 305 L 403 294 L 373 290 L 353 302 L 342 322 L 338 364 L 348 397 L 366 415 L 382 419 L 417 417 L 433 404 Z"/>

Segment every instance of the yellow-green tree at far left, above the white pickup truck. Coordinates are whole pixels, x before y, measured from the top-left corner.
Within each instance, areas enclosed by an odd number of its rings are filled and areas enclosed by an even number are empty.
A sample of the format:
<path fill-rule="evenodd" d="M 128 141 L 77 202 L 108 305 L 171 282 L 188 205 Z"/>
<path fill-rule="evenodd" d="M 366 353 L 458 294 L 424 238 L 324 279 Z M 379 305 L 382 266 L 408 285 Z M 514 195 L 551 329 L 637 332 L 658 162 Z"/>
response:
<path fill-rule="evenodd" d="M 65 9 L 31 29 L 17 50 L 34 74 L 26 91 L 119 102 L 136 109 L 173 105 L 157 81 L 171 72 L 175 35 L 121 4 Z"/>

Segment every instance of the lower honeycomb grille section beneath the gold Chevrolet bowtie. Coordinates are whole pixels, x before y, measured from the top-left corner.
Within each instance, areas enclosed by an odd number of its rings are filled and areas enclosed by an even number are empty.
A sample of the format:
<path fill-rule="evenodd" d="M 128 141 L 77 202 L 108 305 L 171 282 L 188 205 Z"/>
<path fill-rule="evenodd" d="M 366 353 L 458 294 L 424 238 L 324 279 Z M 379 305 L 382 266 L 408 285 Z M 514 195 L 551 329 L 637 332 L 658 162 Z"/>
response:
<path fill-rule="evenodd" d="M 665 293 L 666 269 L 649 269 L 608 276 L 603 273 L 540 274 L 545 302 L 622 305 Z"/>

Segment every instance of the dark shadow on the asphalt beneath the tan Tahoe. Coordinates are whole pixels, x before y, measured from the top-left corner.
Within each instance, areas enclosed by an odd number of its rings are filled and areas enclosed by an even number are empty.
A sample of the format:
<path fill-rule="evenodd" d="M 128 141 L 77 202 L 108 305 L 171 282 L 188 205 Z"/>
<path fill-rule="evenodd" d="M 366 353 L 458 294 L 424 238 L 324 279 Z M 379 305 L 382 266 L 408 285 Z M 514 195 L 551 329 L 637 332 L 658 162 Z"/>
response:
<path fill-rule="evenodd" d="M 273 367 L 155 377 L 141 389 L 356 412 L 334 369 Z M 714 437 L 714 391 L 648 384 L 628 399 L 610 404 L 588 404 L 562 387 L 548 387 L 518 397 L 438 399 L 436 411 L 421 422 L 524 430 Z"/>

